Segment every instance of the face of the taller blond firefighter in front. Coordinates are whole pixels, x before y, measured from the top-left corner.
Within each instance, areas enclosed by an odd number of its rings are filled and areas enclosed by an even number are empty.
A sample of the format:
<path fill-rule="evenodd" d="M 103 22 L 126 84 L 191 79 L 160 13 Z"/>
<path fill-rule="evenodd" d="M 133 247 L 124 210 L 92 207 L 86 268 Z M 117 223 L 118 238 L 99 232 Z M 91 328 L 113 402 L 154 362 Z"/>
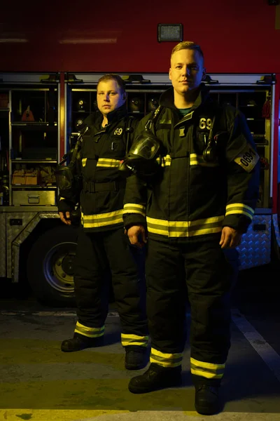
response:
<path fill-rule="evenodd" d="M 198 51 L 185 49 L 172 55 L 169 79 L 177 93 L 182 95 L 195 90 L 204 75 L 203 58 Z"/>

